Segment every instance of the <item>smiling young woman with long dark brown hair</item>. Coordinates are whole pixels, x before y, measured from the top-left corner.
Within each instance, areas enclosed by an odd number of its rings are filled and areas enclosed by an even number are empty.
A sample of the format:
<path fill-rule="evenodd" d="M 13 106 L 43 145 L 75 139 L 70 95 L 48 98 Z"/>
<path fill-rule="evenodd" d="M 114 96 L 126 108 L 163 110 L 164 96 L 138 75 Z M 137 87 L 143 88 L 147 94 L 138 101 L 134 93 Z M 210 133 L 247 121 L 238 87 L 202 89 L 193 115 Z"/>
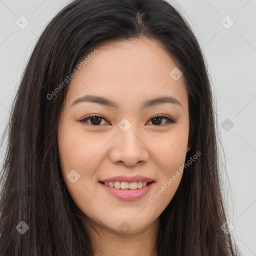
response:
<path fill-rule="evenodd" d="M 13 104 L 0 254 L 238 255 L 214 114 L 198 42 L 169 3 L 71 2 Z"/>

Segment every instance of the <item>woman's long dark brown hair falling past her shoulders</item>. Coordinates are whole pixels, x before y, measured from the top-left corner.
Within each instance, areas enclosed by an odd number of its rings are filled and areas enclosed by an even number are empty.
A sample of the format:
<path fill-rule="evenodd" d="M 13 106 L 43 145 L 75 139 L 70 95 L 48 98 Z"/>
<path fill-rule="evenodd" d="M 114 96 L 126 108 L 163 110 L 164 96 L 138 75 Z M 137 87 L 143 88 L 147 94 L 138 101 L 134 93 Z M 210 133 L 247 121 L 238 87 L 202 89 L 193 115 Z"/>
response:
<path fill-rule="evenodd" d="M 1 256 L 94 254 L 60 167 L 57 126 L 68 86 L 62 82 L 96 46 L 133 38 L 157 40 L 182 71 L 191 143 L 185 162 L 201 153 L 160 214 L 157 255 L 239 254 L 221 229 L 227 219 L 214 101 L 206 61 L 187 21 L 164 0 L 74 0 L 39 37 L 11 108 L 0 177 Z M 16 228 L 20 221 L 29 227 L 23 234 Z"/>

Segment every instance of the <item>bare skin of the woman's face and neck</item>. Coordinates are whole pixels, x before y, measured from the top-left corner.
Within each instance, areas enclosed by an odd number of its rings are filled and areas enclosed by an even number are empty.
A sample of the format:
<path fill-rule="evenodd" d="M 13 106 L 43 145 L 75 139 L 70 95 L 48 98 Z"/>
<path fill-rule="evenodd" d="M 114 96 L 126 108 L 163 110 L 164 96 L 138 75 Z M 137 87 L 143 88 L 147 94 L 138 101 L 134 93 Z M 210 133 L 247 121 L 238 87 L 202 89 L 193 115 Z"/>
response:
<path fill-rule="evenodd" d="M 176 67 L 157 41 L 147 38 L 116 41 L 97 48 L 70 81 L 58 126 L 58 144 L 63 178 L 76 205 L 86 215 L 84 227 L 99 256 L 156 255 L 155 240 L 159 215 L 172 199 L 179 175 L 153 202 L 154 195 L 184 163 L 188 144 L 188 98 L 183 76 L 174 80 Z M 72 102 L 86 94 L 105 96 L 118 108 L 95 102 Z M 182 105 L 163 103 L 140 109 L 156 96 L 173 96 Z M 83 123 L 88 114 L 93 117 Z M 165 115 L 158 123 L 151 118 Z M 126 118 L 131 127 L 123 131 L 118 123 Z M 93 124 L 94 123 L 94 126 Z M 96 125 L 95 125 L 96 123 Z M 99 123 L 99 124 L 97 124 Z M 75 169 L 80 177 L 67 177 Z M 99 180 L 116 175 L 144 175 L 154 180 L 150 190 L 134 200 L 118 199 L 105 191 Z M 118 226 L 126 221 L 124 233 Z M 90 227 L 92 225 L 98 234 Z"/>

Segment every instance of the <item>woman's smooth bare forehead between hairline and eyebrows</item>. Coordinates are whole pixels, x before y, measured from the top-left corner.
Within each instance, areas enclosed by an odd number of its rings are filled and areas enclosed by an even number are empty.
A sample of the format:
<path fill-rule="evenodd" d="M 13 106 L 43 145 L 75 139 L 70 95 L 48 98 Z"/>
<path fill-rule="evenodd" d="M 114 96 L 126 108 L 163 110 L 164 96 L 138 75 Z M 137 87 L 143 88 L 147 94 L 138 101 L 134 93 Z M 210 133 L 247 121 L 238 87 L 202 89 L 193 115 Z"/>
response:
<path fill-rule="evenodd" d="M 186 108 L 183 76 L 178 80 L 170 76 L 177 64 L 157 41 L 145 38 L 116 41 L 96 49 L 98 53 L 87 58 L 89 61 L 81 70 L 77 69 L 70 81 L 69 103 L 85 94 L 105 96 L 120 106 L 169 95 Z"/>

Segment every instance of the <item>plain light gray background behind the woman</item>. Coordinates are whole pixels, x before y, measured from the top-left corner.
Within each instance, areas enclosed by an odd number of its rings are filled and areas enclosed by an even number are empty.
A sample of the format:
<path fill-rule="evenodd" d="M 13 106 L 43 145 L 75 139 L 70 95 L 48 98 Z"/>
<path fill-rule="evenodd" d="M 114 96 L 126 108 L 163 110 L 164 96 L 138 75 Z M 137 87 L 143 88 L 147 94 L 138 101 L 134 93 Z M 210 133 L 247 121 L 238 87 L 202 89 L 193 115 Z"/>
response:
<path fill-rule="evenodd" d="M 0 0 L 0 135 L 38 36 L 69 2 Z M 256 255 L 256 0 L 170 2 L 191 25 L 207 60 L 227 167 L 221 179 L 231 234 L 242 255 Z M 21 15 L 29 21 L 24 29 L 15 23 Z"/>

